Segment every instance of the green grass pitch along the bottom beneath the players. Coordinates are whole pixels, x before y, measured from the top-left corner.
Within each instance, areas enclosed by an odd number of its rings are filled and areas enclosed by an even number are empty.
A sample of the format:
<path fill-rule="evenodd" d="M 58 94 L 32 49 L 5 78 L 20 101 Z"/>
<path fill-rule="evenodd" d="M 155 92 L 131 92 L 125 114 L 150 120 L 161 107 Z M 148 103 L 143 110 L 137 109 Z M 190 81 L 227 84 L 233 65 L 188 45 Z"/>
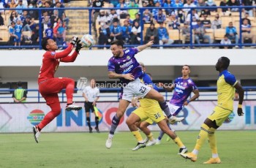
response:
<path fill-rule="evenodd" d="M 199 131 L 177 131 L 189 151 Z M 0 134 L 0 167 L 256 167 L 256 131 L 217 131 L 222 164 L 205 165 L 211 157 L 208 142 L 196 162 L 179 156 L 172 141 L 132 151 L 136 145 L 130 132 L 117 132 L 111 149 L 105 148 L 108 133 L 44 133 L 39 144 L 31 134 Z M 158 132 L 154 132 L 157 138 Z"/>

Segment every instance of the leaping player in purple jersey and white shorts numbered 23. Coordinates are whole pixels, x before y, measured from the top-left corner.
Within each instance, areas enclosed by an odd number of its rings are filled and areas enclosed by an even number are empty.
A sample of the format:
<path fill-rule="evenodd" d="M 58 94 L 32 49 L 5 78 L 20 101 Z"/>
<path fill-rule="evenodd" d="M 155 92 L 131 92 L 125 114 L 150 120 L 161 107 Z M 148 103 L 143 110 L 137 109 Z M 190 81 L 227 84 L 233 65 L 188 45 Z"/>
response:
<path fill-rule="evenodd" d="M 148 42 L 146 45 L 129 47 L 127 49 L 124 49 L 123 45 L 124 42 L 121 40 L 114 40 L 111 42 L 110 46 L 113 56 L 108 61 L 108 77 L 110 77 L 110 79 L 120 79 L 122 84 L 122 94 L 116 115 L 113 116 L 108 140 L 105 143 L 106 148 L 108 149 L 112 146 L 112 139 L 118 123 L 129 106 L 129 103 L 132 102 L 134 96 L 157 100 L 170 122 L 179 122 L 184 119 L 176 118 L 170 114 L 169 107 L 167 106 L 162 94 L 151 89 L 148 85 L 140 83 L 139 77 L 143 75 L 143 71 L 135 58 L 135 54 L 145 50 L 146 47 L 151 47 L 151 45 L 153 45 L 153 41 Z"/>

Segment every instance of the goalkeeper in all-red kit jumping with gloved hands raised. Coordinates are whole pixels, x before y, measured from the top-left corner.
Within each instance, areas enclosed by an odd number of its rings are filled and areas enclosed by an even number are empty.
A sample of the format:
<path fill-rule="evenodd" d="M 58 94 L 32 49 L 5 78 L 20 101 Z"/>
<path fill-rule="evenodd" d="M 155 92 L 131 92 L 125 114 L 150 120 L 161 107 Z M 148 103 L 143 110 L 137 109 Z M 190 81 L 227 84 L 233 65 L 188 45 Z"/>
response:
<path fill-rule="evenodd" d="M 75 51 L 72 52 L 73 47 Z M 38 76 L 39 92 L 45 98 L 46 104 L 50 106 L 50 112 L 45 115 L 45 118 L 37 126 L 33 127 L 34 140 L 38 143 L 40 131 L 53 121 L 56 116 L 61 113 L 61 104 L 59 102 L 58 93 L 62 89 L 66 89 L 67 106 L 66 110 L 80 110 L 82 107 L 73 104 L 73 93 L 75 88 L 75 81 L 67 77 L 54 77 L 60 62 L 74 62 L 82 48 L 78 37 L 72 37 L 70 45 L 63 51 L 56 53 L 58 46 L 53 39 L 42 39 L 42 49 L 46 50 L 42 56 L 42 65 Z"/>

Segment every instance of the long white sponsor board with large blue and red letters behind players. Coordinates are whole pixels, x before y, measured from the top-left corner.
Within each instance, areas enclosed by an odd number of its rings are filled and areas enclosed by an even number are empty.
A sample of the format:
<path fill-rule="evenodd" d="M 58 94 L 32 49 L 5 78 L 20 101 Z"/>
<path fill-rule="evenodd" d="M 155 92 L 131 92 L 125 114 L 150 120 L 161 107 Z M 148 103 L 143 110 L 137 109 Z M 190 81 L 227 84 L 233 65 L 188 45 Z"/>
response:
<path fill-rule="evenodd" d="M 83 103 L 78 103 L 83 107 Z M 216 106 L 216 101 L 198 101 L 189 103 L 178 114 L 179 117 L 184 117 L 184 121 L 176 123 L 172 126 L 175 130 L 199 130 L 201 124 Z M 235 102 L 234 112 L 230 115 L 230 121 L 223 123 L 219 129 L 222 130 L 240 130 L 240 129 L 256 129 L 256 102 L 244 101 L 243 110 L 244 116 L 239 117 L 236 113 L 237 104 Z M 45 126 L 42 131 L 89 131 L 86 125 L 86 112 L 84 108 L 79 111 L 65 111 L 66 104 L 61 104 L 61 113 L 51 121 L 48 126 Z M 99 110 L 99 130 L 109 131 L 112 123 L 112 118 L 118 110 L 118 102 L 98 102 L 97 109 Z M 125 123 L 129 114 L 135 110 L 129 106 L 121 118 L 116 131 L 129 131 Z M 37 125 L 45 115 L 50 111 L 50 107 L 44 103 L 39 104 L 0 104 L 0 133 L 7 132 L 31 132 L 32 126 Z M 90 112 L 91 126 L 95 127 L 95 115 Z M 157 124 L 150 126 L 151 130 L 158 131 Z M 95 130 L 93 130 L 95 131 Z"/>

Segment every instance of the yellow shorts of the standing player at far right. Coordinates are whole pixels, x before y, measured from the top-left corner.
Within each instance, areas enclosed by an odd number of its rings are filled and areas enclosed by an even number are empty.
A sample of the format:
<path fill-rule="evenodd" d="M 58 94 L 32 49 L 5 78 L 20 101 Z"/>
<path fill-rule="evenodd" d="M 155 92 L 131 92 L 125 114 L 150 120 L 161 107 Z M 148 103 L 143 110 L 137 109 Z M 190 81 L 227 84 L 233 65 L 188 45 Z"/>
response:
<path fill-rule="evenodd" d="M 214 112 L 208 116 L 211 121 L 215 121 L 217 126 L 222 126 L 222 123 L 228 118 L 232 111 L 224 109 L 222 107 L 214 107 Z"/>

